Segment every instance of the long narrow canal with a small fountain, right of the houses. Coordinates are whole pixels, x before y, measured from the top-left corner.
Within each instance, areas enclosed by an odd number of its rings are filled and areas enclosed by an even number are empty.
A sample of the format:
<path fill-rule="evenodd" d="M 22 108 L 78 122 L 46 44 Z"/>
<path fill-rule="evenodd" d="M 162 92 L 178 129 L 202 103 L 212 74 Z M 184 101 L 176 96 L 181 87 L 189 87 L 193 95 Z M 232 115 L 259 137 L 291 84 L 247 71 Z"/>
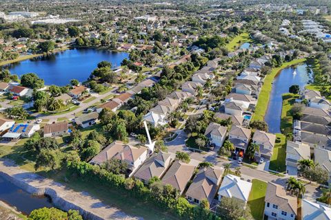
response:
<path fill-rule="evenodd" d="M 304 89 L 310 80 L 312 80 L 312 74 L 308 74 L 307 65 L 305 64 L 298 65 L 295 68 L 282 69 L 274 78 L 268 110 L 264 118 L 270 133 L 281 133 L 282 95 L 288 93 L 291 85 L 299 85 L 300 90 Z"/>

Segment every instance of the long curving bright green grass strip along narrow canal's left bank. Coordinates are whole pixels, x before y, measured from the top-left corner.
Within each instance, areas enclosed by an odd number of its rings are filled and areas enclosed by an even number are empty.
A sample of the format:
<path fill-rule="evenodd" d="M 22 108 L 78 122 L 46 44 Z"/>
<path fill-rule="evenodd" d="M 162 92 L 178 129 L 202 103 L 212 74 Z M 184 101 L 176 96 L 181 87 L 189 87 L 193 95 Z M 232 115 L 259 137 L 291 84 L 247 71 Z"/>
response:
<path fill-rule="evenodd" d="M 281 69 L 284 69 L 292 65 L 297 65 L 303 62 L 305 62 L 304 58 L 283 63 L 281 67 L 273 68 L 270 74 L 265 76 L 263 86 L 259 94 L 259 99 L 257 100 L 257 106 L 255 107 L 254 115 L 252 117 L 252 121 L 263 121 L 265 112 L 268 109 L 268 102 L 270 98 L 272 81 L 274 80 L 274 77 L 277 76 L 277 74 L 281 71 Z"/>

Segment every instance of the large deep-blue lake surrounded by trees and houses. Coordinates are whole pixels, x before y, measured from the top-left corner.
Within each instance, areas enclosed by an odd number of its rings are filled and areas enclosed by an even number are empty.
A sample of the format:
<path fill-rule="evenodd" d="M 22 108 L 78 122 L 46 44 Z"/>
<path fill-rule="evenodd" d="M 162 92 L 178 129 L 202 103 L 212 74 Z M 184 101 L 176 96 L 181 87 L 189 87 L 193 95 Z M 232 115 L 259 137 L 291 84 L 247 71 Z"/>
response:
<path fill-rule="evenodd" d="M 118 67 L 129 54 L 108 50 L 73 49 L 12 63 L 7 67 L 12 74 L 35 73 L 45 80 L 46 85 L 67 85 L 73 78 L 83 82 L 100 61 L 109 61 Z"/>

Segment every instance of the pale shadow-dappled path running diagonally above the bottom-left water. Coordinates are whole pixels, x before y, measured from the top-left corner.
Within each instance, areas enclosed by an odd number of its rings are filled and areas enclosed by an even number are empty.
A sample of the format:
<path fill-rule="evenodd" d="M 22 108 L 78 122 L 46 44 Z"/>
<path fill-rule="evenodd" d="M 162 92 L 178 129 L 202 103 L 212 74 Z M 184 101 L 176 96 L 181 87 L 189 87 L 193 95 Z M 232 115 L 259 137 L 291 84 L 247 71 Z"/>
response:
<path fill-rule="evenodd" d="M 16 166 L 14 162 L 8 159 L 0 159 L 0 173 L 6 173 L 14 178 L 14 181 L 19 181 L 23 185 L 28 184 L 32 188 L 36 188 L 43 192 L 52 192 L 52 195 L 56 195 L 57 198 L 52 198 L 53 201 L 59 201 L 63 205 L 63 201 L 66 201 L 66 207 L 78 206 L 81 211 L 86 212 L 89 215 L 89 219 L 142 219 L 139 217 L 131 217 L 128 214 L 119 210 L 119 208 L 113 206 L 107 206 L 101 200 L 96 199 L 87 192 L 76 192 L 62 184 L 59 184 L 52 179 L 41 177 L 40 175 L 22 170 L 19 166 Z M 94 218 L 90 218 L 91 214 Z"/>

